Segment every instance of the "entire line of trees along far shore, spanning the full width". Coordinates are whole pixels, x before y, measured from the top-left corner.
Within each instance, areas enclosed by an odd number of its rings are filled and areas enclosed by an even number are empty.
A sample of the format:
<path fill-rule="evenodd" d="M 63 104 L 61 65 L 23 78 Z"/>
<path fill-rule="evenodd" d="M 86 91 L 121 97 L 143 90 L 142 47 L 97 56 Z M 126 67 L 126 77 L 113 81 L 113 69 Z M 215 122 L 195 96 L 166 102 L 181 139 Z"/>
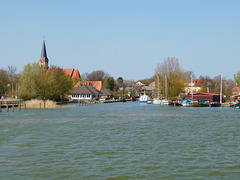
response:
<path fill-rule="evenodd" d="M 155 80 L 155 92 L 159 87 L 161 97 L 175 98 L 184 93 L 186 80 L 191 77 L 194 78 L 193 72 L 182 69 L 177 58 L 169 57 L 157 65 L 152 78 L 142 81 L 150 84 Z M 200 76 L 198 79 L 202 82 L 200 92 L 220 93 L 220 75 L 214 78 Z M 6 70 L 0 69 L 0 96 L 8 94 L 24 100 L 38 98 L 59 101 L 72 90 L 77 81 L 79 79 L 71 79 L 57 66 L 45 69 L 40 68 L 38 63 L 32 63 L 25 65 L 21 73 L 17 73 L 16 67 L 8 66 Z M 142 90 L 134 86 L 134 81 L 123 80 L 122 77 L 114 79 L 103 70 L 85 73 L 80 81 L 102 81 L 103 88 L 110 89 L 116 96 L 138 96 Z M 222 84 L 223 95 L 231 96 L 232 89 L 240 86 L 240 71 L 234 75 L 234 80 L 223 77 Z"/>

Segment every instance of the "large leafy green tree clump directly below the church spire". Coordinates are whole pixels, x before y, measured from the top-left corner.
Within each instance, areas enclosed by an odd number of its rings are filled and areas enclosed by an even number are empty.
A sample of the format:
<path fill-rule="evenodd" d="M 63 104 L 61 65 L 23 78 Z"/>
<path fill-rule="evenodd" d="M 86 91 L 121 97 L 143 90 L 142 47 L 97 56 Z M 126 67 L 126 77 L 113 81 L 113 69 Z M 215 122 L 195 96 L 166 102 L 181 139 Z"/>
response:
<path fill-rule="evenodd" d="M 59 67 L 40 68 L 38 63 L 24 66 L 20 75 L 20 98 L 62 100 L 73 87 L 73 80 Z"/>

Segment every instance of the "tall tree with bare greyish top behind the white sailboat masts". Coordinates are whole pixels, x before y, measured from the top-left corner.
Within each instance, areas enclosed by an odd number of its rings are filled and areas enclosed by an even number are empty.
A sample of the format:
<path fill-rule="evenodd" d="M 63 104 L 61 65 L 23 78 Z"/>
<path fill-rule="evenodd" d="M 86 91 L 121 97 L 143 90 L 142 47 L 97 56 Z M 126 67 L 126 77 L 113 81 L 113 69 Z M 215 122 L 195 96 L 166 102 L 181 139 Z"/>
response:
<path fill-rule="evenodd" d="M 164 94 L 167 89 L 167 96 L 169 97 L 176 97 L 182 93 L 184 91 L 184 82 L 190 77 L 189 72 L 180 68 L 178 59 L 175 57 L 168 57 L 162 64 L 158 64 L 155 70 L 155 79 L 157 79 L 157 75 L 159 77 L 160 92 Z"/>

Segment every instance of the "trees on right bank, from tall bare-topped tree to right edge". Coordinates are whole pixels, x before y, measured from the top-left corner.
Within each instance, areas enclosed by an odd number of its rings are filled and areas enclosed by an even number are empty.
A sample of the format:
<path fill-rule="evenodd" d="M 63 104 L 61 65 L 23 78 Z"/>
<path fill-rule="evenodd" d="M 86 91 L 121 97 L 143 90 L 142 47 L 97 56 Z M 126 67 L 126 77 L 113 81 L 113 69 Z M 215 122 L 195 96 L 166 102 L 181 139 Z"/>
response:
<path fill-rule="evenodd" d="M 191 77 L 194 78 L 193 72 L 182 69 L 178 59 L 171 57 L 165 59 L 162 64 L 157 65 L 154 79 L 156 82 L 159 80 L 160 95 L 162 97 L 174 98 L 184 92 L 185 83 Z M 201 93 L 220 93 L 221 75 L 214 78 L 200 76 L 198 79 L 201 79 L 202 82 Z M 234 80 L 222 77 L 222 92 L 224 96 L 230 97 L 232 89 L 236 86 L 240 86 L 240 71 L 234 75 Z M 156 92 L 157 88 L 158 84 L 155 86 Z"/>

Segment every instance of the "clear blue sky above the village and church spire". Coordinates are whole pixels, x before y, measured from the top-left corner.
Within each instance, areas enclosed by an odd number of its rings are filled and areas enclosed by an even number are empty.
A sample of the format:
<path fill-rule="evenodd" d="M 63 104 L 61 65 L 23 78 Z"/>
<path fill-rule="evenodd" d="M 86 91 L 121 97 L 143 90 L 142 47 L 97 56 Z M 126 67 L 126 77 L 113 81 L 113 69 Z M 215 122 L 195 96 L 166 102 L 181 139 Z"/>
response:
<path fill-rule="evenodd" d="M 38 62 L 114 78 L 150 78 L 167 57 L 233 78 L 240 70 L 239 0 L 1 0 L 0 67 Z"/>

